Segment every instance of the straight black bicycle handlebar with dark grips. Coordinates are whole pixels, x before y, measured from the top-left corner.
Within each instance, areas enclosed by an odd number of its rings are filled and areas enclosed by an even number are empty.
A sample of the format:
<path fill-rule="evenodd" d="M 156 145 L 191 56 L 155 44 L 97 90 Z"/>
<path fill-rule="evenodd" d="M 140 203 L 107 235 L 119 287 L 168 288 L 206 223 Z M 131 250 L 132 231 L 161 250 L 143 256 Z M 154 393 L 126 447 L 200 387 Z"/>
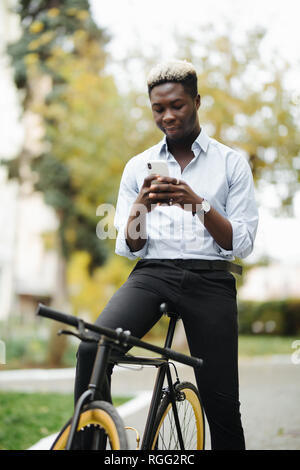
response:
<path fill-rule="evenodd" d="M 80 318 L 59 312 L 58 310 L 46 307 L 43 304 L 38 305 L 36 315 L 45 318 L 50 318 L 51 320 L 55 320 L 60 323 L 66 323 L 67 325 L 74 326 L 75 328 L 78 328 L 81 322 L 83 327 L 87 330 L 93 331 L 100 335 L 105 335 L 111 339 L 120 341 L 123 344 L 138 346 L 140 348 L 147 349 L 148 351 L 153 351 L 157 354 L 161 354 L 162 356 L 172 359 L 173 361 L 181 362 L 182 364 L 186 364 L 194 368 L 201 367 L 203 364 L 203 360 L 200 358 L 186 356 L 185 354 L 178 353 L 169 348 L 160 348 L 159 346 L 154 346 L 153 344 L 145 343 L 139 338 L 131 336 L 130 334 L 127 335 L 123 331 L 120 332 L 118 330 L 113 330 L 112 328 L 104 328 L 102 326 L 97 326 L 92 323 L 87 323 Z"/>

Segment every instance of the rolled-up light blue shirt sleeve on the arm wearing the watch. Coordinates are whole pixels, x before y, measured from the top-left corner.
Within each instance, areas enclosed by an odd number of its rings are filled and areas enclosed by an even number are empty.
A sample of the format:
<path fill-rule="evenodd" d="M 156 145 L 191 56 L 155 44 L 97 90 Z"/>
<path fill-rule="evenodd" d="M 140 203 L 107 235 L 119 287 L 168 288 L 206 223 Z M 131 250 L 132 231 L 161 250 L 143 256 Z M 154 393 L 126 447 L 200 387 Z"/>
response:
<path fill-rule="evenodd" d="M 219 253 L 225 257 L 246 258 L 254 246 L 258 209 L 252 172 L 242 156 L 239 156 L 233 168 L 226 202 L 226 217 L 232 225 L 232 250 L 219 247 Z"/>

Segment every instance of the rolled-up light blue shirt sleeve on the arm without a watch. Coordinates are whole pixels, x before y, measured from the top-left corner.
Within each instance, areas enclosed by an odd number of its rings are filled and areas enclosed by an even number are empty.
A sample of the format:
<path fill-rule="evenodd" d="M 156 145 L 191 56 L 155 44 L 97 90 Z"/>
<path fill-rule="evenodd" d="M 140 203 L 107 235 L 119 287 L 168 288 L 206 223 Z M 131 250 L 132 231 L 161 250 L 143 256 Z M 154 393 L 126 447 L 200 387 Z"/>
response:
<path fill-rule="evenodd" d="M 121 178 L 120 189 L 116 213 L 114 218 L 114 226 L 117 229 L 117 239 L 115 252 L 117 255 L 125 256 L 129 259 L 143 258 L 147 252 L 148 240 L 139 251 L 131 251 L 126 242 L 125 228 L 127 225 L 130 209 L 136 200 L 139 188 L 132 168 L 132 161 L 129 161 L 124 168 Z"/>

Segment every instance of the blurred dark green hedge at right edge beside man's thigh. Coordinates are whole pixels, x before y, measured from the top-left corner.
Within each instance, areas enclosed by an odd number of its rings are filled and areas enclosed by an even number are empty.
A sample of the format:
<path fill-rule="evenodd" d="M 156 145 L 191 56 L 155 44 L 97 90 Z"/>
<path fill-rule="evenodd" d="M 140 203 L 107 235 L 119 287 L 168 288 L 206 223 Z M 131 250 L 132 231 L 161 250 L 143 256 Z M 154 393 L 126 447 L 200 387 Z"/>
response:
<path fill-rule="evenodd" d="M 240 302 L 239 330 L 242 334 L 299 335 L 300 299 Z"/>

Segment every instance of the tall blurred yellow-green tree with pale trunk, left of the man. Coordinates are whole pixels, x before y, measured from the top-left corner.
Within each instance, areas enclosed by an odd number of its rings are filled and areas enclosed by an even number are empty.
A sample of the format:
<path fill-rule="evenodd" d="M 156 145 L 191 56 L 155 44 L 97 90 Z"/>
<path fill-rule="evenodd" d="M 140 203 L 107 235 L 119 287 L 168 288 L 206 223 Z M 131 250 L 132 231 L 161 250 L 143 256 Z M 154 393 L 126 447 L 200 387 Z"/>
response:
<path fill-rule="evenodd" d="M 96 236 L 96 208 L 115 197 L 126 155 L 118 140 L 122 113 L 105 72 L 108 38 L 94 24 L 86 0 L 24 0 L 17 10 L 22 34 L 8 53 L 24 116 L 37 118 L 41 138 L 39 145 L 25 142 L 8 166 L 11 177 L 29 181 L 56 211 L 60 258 L 53 304 L 66 308 L 66 263 L 72 253 L 89 254 L 90 273 L 106 258 L 107 247 Z M 60 365 L 62 341 L 54 338 L 50 362 Z"/>

